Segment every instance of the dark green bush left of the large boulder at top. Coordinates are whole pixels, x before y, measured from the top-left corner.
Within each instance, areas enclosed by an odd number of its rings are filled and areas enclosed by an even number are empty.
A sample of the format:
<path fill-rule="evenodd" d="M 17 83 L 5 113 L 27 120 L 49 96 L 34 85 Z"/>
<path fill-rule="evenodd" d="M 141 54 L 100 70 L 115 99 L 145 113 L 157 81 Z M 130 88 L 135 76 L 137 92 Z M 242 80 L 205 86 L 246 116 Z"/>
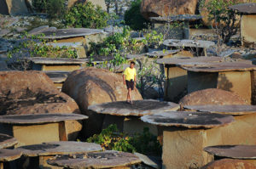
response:
<path fill-rule="evenodd" d="M 140 12 L 142 0 L 135 0 L 131 3 L 131 8 L 125 12 L 125 24 L 133 30 L 142 30 L 148 28 L 148 20 L 143 18 Z"/>

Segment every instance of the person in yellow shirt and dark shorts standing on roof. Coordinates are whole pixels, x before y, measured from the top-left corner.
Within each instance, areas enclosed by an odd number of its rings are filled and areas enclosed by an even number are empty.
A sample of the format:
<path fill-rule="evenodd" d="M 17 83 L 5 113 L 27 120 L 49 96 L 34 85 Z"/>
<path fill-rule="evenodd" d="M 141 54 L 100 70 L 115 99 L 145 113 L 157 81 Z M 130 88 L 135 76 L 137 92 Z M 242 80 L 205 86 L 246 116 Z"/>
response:
<path fill-rule="evenodd" d="M 124 81 L 124 84 L 126 84 L 126 87 L 128 90 L 126 102 L 131 104 L 132 104 L 131 91 L 134 90 L 134 86 L 136 85 L 136 76 L 137 76 L 137 72 L 134 66 L 135 66 L 135 62 L 131 61 L 130 67 L 127 67 L 123 74 L 123 81 Z"/>

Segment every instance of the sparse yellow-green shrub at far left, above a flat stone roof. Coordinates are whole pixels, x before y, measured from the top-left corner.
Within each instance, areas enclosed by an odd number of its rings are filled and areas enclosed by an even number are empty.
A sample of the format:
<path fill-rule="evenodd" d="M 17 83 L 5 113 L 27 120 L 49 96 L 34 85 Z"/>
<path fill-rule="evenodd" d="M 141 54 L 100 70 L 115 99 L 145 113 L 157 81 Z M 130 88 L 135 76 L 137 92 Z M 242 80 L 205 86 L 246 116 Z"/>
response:
<path fill-rule="evenodd" d="M 8 57 L 9 59 L 20 61 L 22 57 L 77 58 L 78 55 L 73 48 L 66 46 L 53 47 L 47 44 L 44 39 L 44 34 L 29 37 L 28 34 L 25 33 L 21 37 L 20 43 L 9 50 Z"/>

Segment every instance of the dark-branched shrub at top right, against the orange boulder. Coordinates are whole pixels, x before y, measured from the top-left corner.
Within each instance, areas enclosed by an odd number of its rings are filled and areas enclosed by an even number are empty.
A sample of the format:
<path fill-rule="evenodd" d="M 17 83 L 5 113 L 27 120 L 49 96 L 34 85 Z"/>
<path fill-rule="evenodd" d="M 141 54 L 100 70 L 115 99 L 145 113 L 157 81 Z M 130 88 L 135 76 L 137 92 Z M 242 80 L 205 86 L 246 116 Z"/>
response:
<path fill-rule="evenodd" d="M 237 23 L 238 13 L 228 8 L 237 3 L 241 3 L 241 0 L 210 0 L 207 3 L 206 0 L 201 0 L 200 8 L 209 12 L 208 20 L 212 21 L 212 28 L 216 30 L 222 42 L 229 42 L 240 26 Z"/>

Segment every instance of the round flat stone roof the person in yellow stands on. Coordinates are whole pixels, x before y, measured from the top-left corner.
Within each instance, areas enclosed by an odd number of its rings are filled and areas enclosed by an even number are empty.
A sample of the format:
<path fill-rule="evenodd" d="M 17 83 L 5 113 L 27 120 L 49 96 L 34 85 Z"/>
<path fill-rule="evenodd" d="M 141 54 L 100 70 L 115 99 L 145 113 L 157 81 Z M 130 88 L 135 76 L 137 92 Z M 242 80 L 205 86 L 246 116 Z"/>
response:
<path fill-rule="evenodd" d="M 133 101 L 133 104 L 128 104 L 125 101 L 95 104 L 90 105 L 88 109 L 99 114 L 143 116 L 159 113 L 160 111 L 178 110 L 179 105 L 172 102 L 160 102 L 153 99 L 144 99 L 135 100 Z"/>

